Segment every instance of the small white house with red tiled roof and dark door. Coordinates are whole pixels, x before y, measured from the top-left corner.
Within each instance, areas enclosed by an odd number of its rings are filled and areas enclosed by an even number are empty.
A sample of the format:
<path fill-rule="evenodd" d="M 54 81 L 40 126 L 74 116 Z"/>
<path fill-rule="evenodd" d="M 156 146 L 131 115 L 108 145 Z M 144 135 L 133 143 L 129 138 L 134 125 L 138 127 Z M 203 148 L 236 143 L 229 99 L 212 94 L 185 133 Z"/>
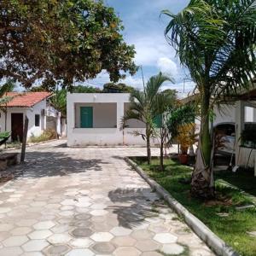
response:
<path fill-rule="evenodd" d="M 21 141 L 24 120 L 28 118 L 27 137 L 38 137 L 47 128 L 54 128 L 49 119 L 55 119 L 55 130 L 61 134 L 61 113 L 49 103 L 49 92 L 9 92 L 12 99 L 1 106 L 1 131 L 11 131 L 12 141 Z"/>

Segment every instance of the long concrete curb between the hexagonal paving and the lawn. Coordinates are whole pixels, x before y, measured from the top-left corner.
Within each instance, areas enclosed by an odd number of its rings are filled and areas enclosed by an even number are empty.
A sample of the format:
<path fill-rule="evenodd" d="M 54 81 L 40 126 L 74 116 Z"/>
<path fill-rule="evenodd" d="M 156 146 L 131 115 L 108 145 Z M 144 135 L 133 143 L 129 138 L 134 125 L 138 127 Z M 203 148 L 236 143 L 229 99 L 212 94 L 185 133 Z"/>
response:
<path fill-rule="evenodd" d="M 182 216 L 185 223 L 194 230 L 195 234 L 204 241 L 208 247 L 212 249 L 214 253 L 219 256 L 239 256 L 240 254 L 234 251 L 232 247 L 229 247 L 223 240 L 216 236 L 212 230 L 209 230 L 205 224 L 196 218 L 192 213 L 190 213 L 185 207 L 183 207 L 177 200 L 175 200 L 169 192 L 166 191 L 159 183 L 156 183 L 152 178 L 143 172 L 143 169 L 137 164 L 125 157 L 125 161 L 132 166 L 137 173 L 143 177 L 143 179 L 150 185 L 152 189 L 161 195 L 164 200 L 168 203 L 172 209 L 177 212 L 178 215 Z"/>

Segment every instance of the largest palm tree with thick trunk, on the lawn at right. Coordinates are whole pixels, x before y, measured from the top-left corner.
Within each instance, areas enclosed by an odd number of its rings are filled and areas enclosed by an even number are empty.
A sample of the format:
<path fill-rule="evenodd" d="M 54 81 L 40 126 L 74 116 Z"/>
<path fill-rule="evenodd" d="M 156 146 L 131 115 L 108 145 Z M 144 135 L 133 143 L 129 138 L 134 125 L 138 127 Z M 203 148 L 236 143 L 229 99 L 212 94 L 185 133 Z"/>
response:
<path fill-rule="evenodd" d="M 189 69 L 200 92 L 201 133 L 191 194 L 214 196 L 209 117 L 214 104 L 253 84 L 255 76 L 256 1 L 190 0 L 172 20 L 166 38 Z"/>

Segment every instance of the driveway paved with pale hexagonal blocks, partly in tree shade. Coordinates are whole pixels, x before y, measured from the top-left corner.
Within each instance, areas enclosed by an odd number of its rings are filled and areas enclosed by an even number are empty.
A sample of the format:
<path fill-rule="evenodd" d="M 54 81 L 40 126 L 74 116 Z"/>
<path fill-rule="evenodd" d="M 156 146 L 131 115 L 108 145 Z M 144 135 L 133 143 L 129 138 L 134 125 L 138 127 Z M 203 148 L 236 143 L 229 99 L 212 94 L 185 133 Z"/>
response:
<path fill-rule="evenodd" d="M 145 148 L 64 143 L 28 148 L 0 188 L 0 255 L 213 255 L 122 159 Z"/>

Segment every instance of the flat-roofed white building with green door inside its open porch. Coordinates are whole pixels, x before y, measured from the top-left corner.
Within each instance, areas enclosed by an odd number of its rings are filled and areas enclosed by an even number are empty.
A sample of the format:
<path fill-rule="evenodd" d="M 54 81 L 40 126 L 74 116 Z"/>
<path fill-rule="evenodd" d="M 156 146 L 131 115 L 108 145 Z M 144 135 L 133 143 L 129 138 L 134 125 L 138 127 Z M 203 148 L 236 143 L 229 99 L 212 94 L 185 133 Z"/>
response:
<path fill-rule="evenodd" d="M 129 93 L 67 93 L 67 146 L 145 145 L 145 125 L 131 119 L 122 130 Z"/>

